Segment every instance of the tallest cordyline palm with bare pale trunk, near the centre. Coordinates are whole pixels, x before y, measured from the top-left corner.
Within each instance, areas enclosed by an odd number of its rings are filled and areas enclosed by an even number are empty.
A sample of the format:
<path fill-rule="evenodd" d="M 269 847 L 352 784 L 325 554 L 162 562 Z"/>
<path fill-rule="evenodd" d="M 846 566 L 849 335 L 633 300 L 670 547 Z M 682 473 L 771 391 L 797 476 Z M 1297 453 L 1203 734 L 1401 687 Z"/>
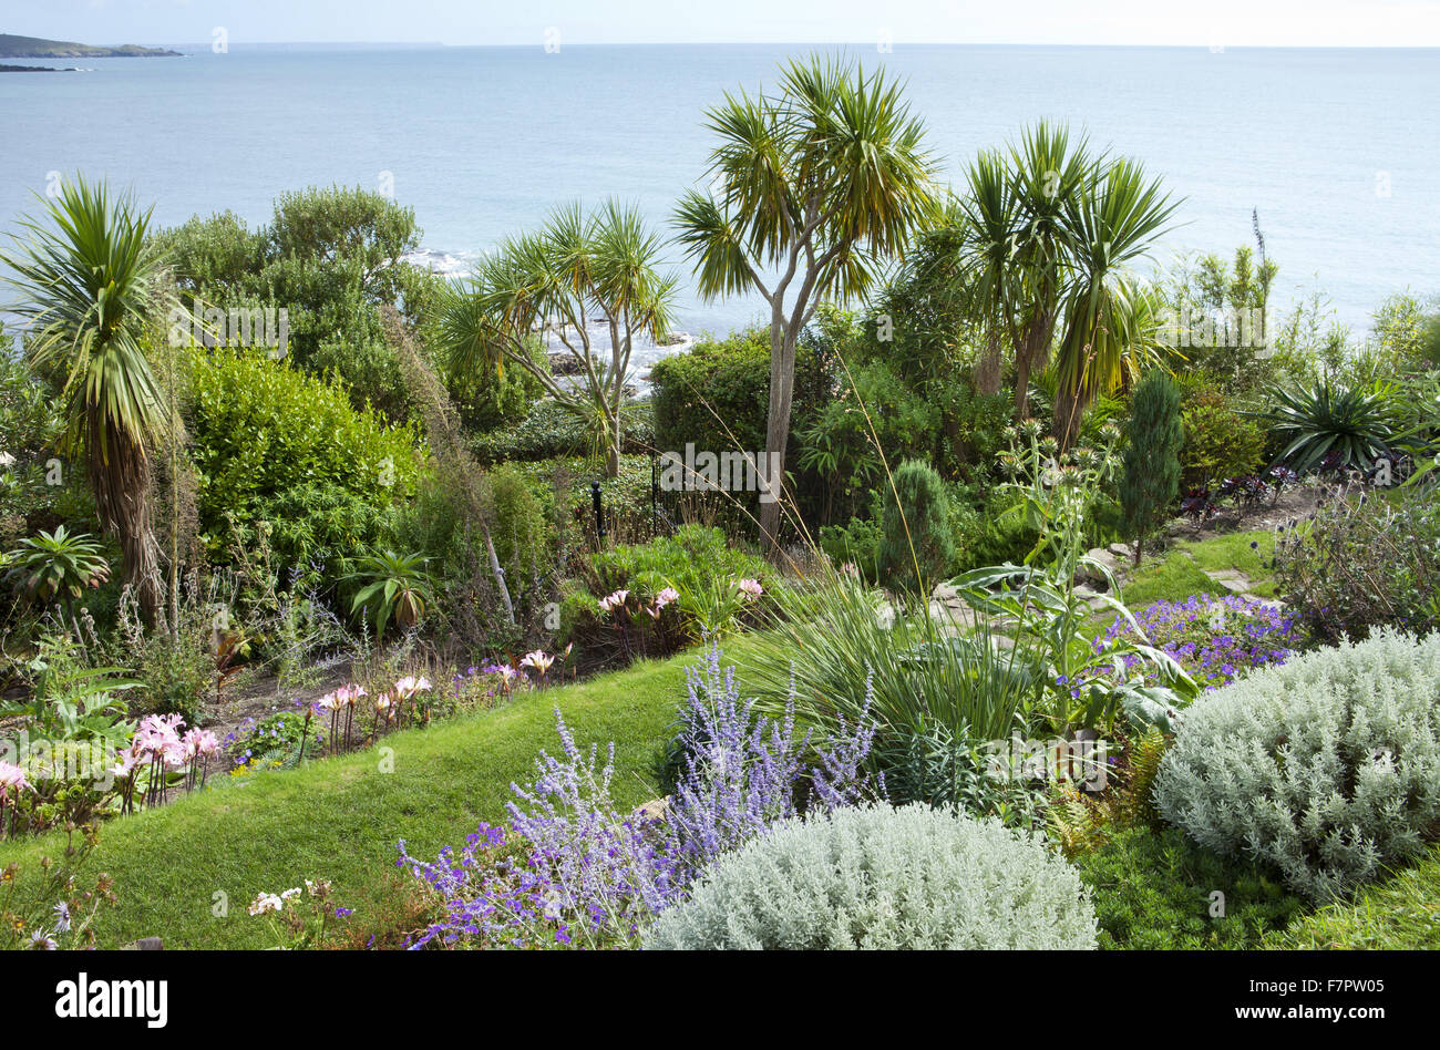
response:
<path fill-rule="evenodd" d="M 755 290 L 770 307 L 765 451 L 783 474 L 796 340 L 822 300 L 864 294 L 933 219 L 935 164 L 901 85 L 848 60 L 791 62 L 776 94 L 726 95 L 707 117 L 711 193 L 685 193 L 674 222 L 703 297 Z M 772 556 L 780 506 L 760 504 Z"/>

